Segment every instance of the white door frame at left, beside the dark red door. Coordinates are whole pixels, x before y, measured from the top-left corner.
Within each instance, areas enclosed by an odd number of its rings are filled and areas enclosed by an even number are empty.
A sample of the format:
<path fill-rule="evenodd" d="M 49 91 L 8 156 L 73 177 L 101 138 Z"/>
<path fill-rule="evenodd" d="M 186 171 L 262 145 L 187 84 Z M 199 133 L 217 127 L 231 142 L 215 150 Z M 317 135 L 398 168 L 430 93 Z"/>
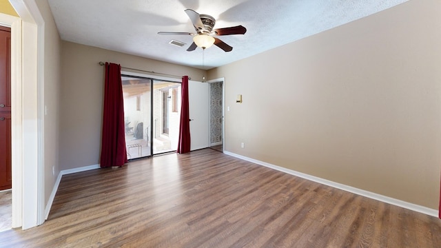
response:
<path fill-rule="evenodd" d="M 0 23 L 11 28 L 12 227 L 28 229 L 44 222 L 44 20 L 34 0 L 10 3 L 20 17 Z"/>

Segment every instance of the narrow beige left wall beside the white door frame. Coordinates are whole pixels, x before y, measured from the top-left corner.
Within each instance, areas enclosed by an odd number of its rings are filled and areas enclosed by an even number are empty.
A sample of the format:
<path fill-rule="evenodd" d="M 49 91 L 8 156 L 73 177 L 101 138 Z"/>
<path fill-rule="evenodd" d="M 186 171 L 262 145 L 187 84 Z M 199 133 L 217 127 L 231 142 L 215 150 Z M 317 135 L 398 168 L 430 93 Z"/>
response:
<path fill-rule="evenodd" d="M 59 168 L 59 85 L 61 39 L 47 0 L 35 1 L 44 19 L 44 178 L 45 203 L 48 203 Z M 54 172 L 52 171 L 54 168 Z"/>

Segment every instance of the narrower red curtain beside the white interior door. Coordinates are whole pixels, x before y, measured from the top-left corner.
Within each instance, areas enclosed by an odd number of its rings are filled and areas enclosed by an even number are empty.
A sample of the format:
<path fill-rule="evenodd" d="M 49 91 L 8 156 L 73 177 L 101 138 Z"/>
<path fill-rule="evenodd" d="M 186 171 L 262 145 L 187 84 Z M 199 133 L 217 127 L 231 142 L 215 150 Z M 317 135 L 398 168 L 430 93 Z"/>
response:
<path fill-rule="evenodd" d="M 188 105 L 188 76 L 183 76 L 181 84 L 181 123 L 179 124 L 179 140 L 176 151 L 179 154 L 190 151 L 190 116 Z"/>

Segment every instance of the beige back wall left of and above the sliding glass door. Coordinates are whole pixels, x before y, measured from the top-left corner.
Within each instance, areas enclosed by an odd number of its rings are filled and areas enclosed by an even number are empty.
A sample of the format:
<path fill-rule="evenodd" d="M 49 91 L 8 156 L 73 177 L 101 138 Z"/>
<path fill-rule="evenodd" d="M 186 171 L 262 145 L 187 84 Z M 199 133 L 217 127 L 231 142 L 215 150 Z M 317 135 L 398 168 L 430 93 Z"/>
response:
<path fill-rule="evenodd" d="M 195 79 L 203 74 L 195 68 L 68 41 L 61 47 L 61 169 L 99 164 L 104 87 L 104 68 L 99 61 Z"/>

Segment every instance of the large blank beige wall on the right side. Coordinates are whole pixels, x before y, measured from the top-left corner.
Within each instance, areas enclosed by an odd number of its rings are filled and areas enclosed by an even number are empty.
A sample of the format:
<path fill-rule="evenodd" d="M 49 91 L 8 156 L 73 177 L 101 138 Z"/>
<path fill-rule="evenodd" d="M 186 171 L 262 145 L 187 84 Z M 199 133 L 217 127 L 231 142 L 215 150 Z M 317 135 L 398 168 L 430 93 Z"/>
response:
<path fill-rule="evenodd" d="M 438 209 L 440 17 L 413 0 L 210 70 L 225 76 L 225 149 Z"/>

